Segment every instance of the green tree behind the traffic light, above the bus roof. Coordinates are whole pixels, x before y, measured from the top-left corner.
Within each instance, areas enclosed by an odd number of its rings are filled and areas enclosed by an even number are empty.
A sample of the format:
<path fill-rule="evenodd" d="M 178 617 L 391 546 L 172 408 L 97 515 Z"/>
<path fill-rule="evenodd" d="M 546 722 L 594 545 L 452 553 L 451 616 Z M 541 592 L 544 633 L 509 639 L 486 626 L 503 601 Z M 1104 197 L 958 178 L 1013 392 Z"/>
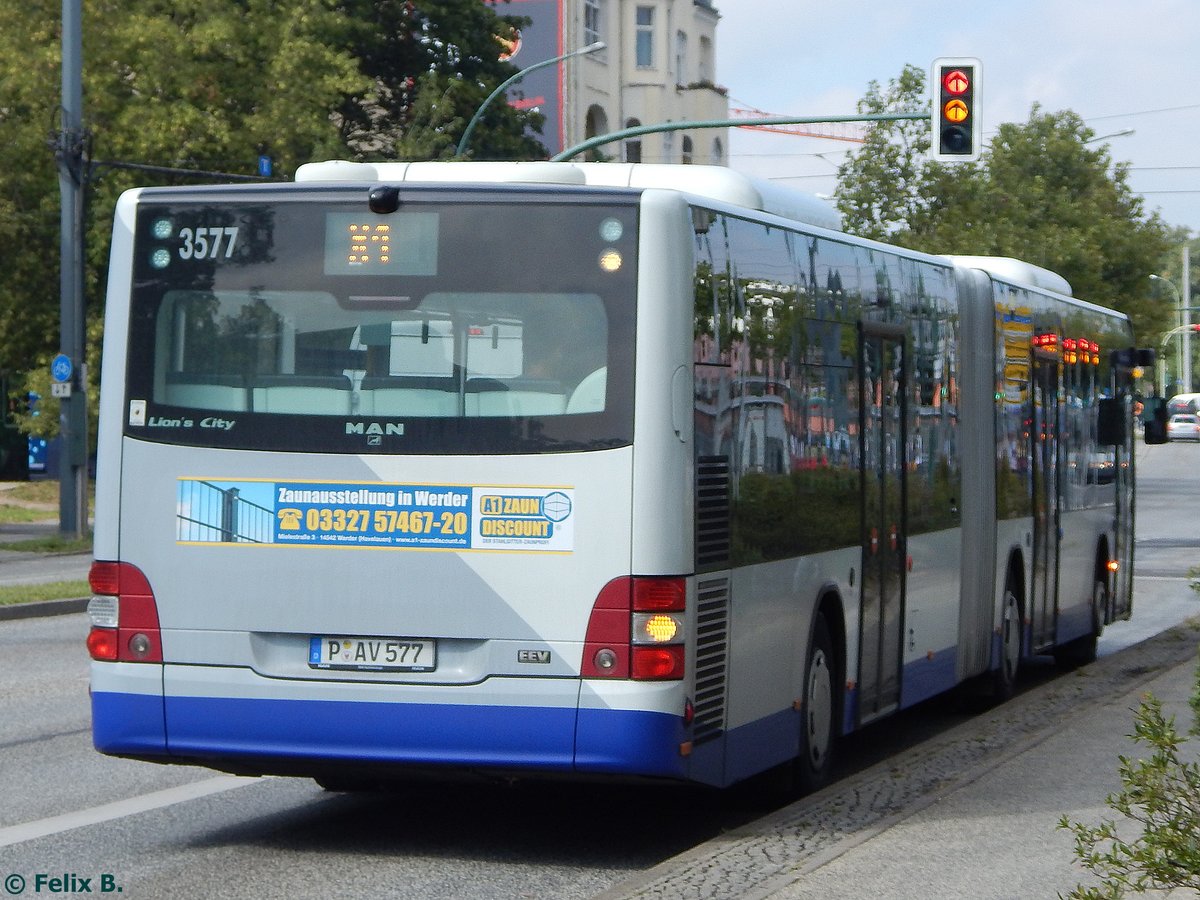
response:
<path fill-rule="evenodd" d="M 887 90 L 871 83 L 859 112 L 926 108 L 925 74 L 906 66 Z M 1146 215 L 1128 167 L 1075 113 L 1006 122 L 978 163 L 924 158 L 924 122 L 877 125 L 839 170 L 847 229 L 932 253 L 1010 256 L 1057 271 L 1074 293 L 1127 312 L 1142 342 L 1168 326 L 1147 276 L 1169 250 L 1168 229 Z"/>

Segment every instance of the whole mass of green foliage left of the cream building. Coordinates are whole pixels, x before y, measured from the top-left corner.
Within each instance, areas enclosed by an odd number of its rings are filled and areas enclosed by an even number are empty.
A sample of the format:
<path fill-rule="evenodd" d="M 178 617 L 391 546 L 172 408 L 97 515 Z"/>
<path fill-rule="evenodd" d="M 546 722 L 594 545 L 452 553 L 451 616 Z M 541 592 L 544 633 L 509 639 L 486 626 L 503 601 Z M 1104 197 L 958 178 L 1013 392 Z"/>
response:
<path fill-rule="evenodd" d="M 504 7 L 499 7 L 504 8 Z M 0 372 L 43 396 L 23 425 L 58 431 L 46 368 L 59 349 L 61 4 L 0 0 Z M 89 396 L 118 196 L 198 179 L 106 163 L 288 178 L 330 157 L 446 158 L 470 114 L 517 70 L 498 37 L 524 19 L 480 0 L 88 0 L 83 10 Z M 493 103 L 476 158 L 545 158 L 541 116 Z M 209 179 L 212 180 L 212 179 Z M 92 431 L 95 433 L 95 431 Z"/>

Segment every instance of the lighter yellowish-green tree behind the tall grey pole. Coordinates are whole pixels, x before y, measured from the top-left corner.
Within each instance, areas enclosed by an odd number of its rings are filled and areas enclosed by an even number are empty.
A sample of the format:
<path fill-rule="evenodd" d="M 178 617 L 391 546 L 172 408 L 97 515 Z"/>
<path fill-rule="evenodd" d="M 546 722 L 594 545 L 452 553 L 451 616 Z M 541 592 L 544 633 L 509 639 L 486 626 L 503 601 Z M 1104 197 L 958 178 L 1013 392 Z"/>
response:
<path fill-rule="evenodd" d="M 238 5 L 95 0 L 84 17 L 84 124 L 90 161 L 253 173 L 259 144 L 284 170 L 338 152 L 329 110 L 365 79 L 329 43 L 325 0 Z M 58 347 L 59 187 L 48 144 L 59 127 L 61 8 L 0 0 L 0 371 L 41 372 Z M 84 294 L 98 338 L 116 196 L 161 176 L 91 166 Z M 11 262 L 10 262 L 11 259 Z M 97 346 L 89 368 L 98 371 Z M 40 425 L 56 425 L 47 409 Z"/>

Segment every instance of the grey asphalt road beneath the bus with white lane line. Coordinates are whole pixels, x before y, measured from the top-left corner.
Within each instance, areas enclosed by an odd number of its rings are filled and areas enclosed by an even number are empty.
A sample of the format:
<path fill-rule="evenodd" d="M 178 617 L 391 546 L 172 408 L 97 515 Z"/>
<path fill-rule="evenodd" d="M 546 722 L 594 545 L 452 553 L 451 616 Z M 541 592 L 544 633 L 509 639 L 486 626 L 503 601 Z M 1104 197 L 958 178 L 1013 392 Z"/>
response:
<path fill-rule="evenodd" d="M 1200 562 L 1198 463 L 1200 446 L 1141 448 L 1145 574 L 1134 620 L 1110 626 L 1102 652 L 1200 612 L 1184 577 Z M 85 558 L 76 563 L 86 571 Z M 0 583 L 12 564 L 0 559 Z M 587 898 L 758 814 L 746 794 L 457 784 L 338 796 L 305 780 L 103 757 L 90 746 L 85 632 L 78 613 L 0 622 L 0 878 L 11 880 L 8 893 L 20 878 L 20 893 L 34 894 L 42 875 L 43 894 L 49 878 L 64 878 L 65 889 L 74 877 L 77 887 L 90 880 L 92 893 L 120 887 L 133 898 Z M 1031 674 L 1031 692 L 1058 678 L 1050 668 Z M 850 742 L 847 770 L 972 721 L 952 703 L 910 710 Z"/>

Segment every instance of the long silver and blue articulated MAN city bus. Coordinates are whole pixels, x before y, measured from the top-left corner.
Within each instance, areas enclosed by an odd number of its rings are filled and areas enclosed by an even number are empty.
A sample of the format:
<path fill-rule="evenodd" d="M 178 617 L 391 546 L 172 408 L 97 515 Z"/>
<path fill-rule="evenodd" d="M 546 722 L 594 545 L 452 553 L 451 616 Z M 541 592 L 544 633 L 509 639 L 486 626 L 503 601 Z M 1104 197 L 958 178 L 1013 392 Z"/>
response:
<path fill-rule="evenodd" d="M 312 163 L 116 209 L 96 748 L 814 787 L 1130 614 L 1128 319 L 725 169 Z"/>

